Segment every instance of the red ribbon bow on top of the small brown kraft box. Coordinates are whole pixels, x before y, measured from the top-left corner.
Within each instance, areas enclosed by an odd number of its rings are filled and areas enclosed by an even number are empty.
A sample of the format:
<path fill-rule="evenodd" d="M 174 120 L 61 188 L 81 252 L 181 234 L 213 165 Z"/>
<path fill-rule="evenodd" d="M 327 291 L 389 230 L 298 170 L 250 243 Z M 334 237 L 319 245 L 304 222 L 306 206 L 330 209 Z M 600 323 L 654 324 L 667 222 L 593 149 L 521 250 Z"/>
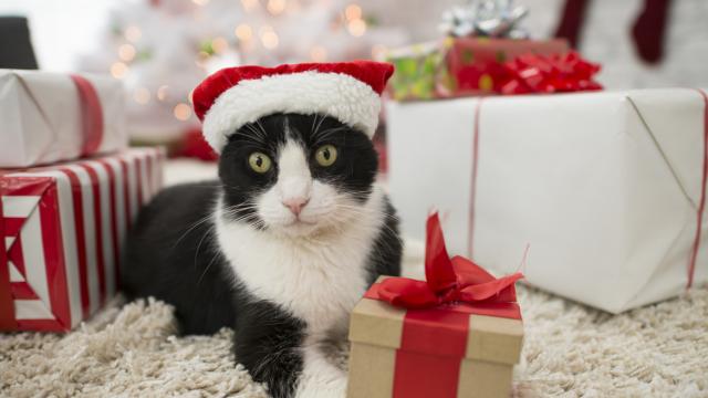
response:
<path fill-rule="evenodd" d="M 437 212 L 426 226 L 426 281 L 388 277 L 378 286 L 378 298 L 406 308 L 428 308 L 444 303 L 512 303 L 514 283 L 523 274 L 496 279 L 462 256 L 449 258 Z"/>

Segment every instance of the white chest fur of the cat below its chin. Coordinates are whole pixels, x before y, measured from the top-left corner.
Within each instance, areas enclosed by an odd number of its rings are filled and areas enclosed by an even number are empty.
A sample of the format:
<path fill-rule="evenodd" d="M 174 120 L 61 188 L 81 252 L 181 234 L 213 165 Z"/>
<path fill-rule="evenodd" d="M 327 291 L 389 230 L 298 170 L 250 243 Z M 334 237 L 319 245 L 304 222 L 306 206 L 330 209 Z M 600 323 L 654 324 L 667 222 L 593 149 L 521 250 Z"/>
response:
<path fill-rule="evenodd" d="M 366 289 L 367 259 L 384 222 L 384 195 L 375 186 L 361 217 L 311 238 L 225 222 L 217 206 L 217 237 L 237 277 L 260 300 L 304 321 L 310 334 L 346 326 Z"/>

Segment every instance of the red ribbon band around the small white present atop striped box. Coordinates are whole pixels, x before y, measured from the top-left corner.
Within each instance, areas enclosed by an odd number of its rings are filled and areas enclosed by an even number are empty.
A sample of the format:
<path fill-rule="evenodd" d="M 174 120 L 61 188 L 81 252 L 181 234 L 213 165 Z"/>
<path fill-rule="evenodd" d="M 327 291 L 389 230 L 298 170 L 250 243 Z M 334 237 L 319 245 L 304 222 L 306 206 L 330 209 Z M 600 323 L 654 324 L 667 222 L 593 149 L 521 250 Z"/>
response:
<path fill-rule="evenodd" d="M 84 136 L 81 156 L 94 155 L 103 140 L 103 109 L 96 90 L 90 81 L 72 74 L 71 80 L 79 91 L 79 109 L 81 127 Z"/>

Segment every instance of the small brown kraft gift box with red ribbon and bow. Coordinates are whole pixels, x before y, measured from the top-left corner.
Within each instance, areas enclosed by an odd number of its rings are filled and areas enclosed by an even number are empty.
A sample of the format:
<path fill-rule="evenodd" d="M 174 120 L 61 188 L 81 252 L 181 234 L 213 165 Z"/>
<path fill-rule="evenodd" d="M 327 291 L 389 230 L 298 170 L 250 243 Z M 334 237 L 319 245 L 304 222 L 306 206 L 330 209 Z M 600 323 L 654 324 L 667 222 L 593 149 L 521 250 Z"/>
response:
<path fill-rule="evenodd" d="M 494 279 L 450 260 L 437 222 L 428 220 L 426 251 L 437 243 L 444 255 L 426 254 L 428 281 L 382 276 L 354 307 L 348 397 L 509 396 L 523 339 L 513 286 L 521 274 Z"/>

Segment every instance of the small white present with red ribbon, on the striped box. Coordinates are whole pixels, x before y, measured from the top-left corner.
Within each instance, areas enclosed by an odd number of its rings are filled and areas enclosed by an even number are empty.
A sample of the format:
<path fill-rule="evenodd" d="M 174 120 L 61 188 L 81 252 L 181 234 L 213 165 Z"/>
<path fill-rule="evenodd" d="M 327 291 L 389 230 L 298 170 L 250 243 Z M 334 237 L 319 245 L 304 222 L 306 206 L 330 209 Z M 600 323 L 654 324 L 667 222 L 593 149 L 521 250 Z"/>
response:
<path fill-rule="evenodd" d="M 0 167 L 30 167 L 127 147 L 119 81 L 0 70 Z"/>

